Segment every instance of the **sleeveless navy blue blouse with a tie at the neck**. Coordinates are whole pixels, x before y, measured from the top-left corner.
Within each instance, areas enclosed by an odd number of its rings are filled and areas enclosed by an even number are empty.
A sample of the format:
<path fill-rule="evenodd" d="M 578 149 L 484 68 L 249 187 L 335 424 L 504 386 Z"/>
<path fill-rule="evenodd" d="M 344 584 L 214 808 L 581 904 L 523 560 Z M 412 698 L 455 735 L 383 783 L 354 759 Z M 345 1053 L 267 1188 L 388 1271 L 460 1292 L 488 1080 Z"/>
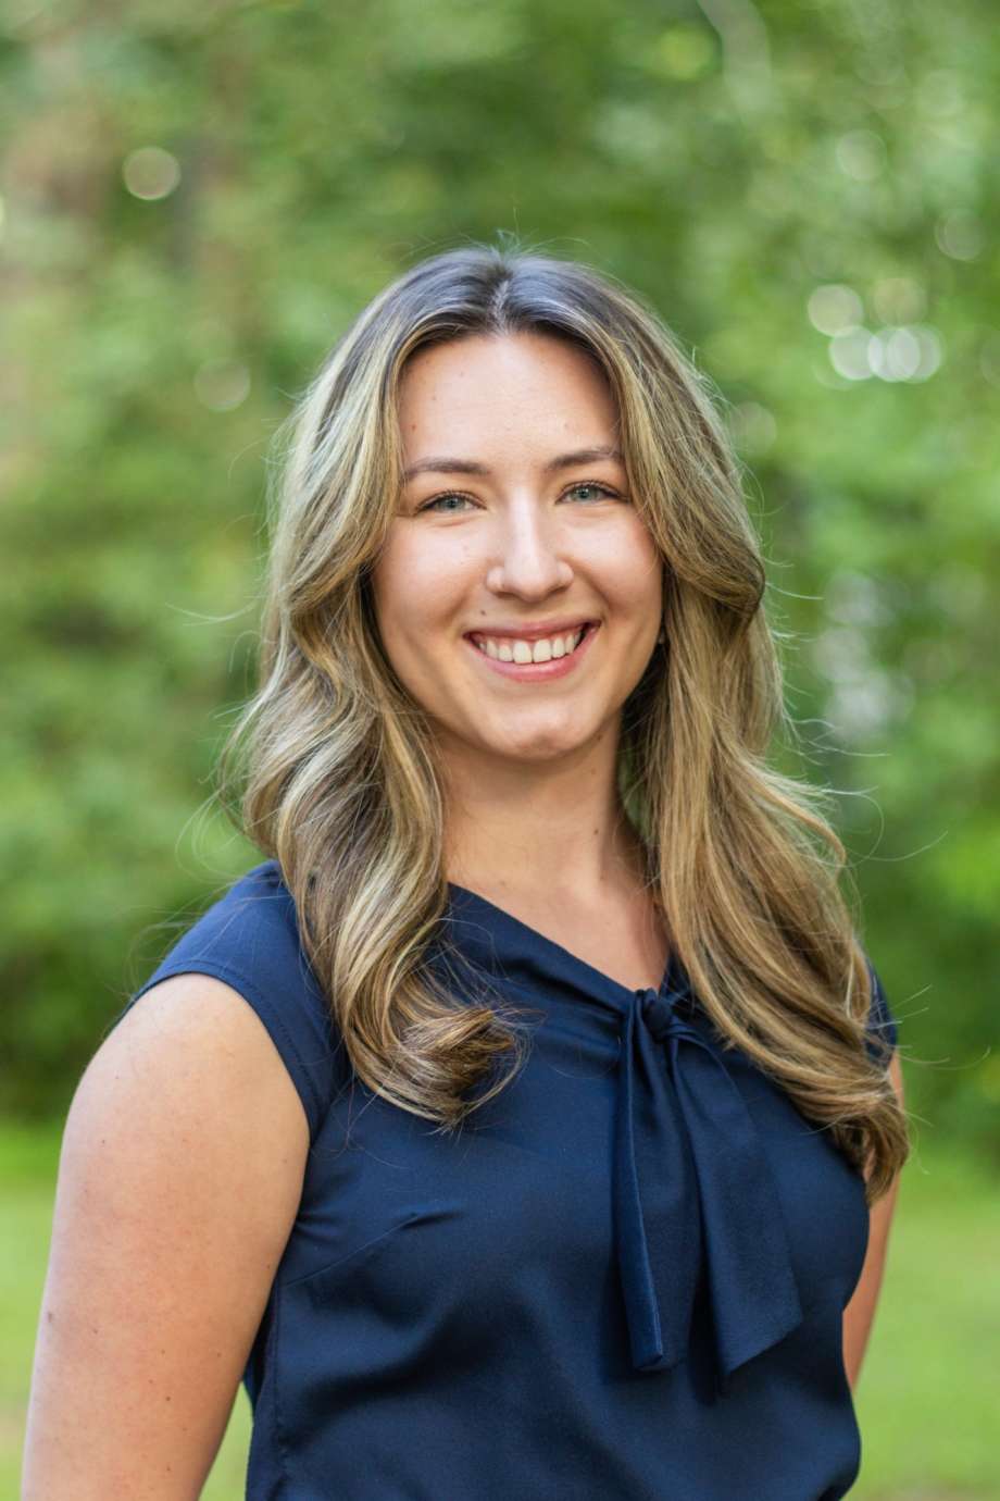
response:
<path fill-rule="evenodd" d="M 243 1376 L 249 1501 L 843 1496 L 861 1175 L 723 1049 L 675 959 L 631 991 L 451 886 L 429 962 L 532 1009 L 526 1066 L 451 1138 L 352 1075 L 273 860 L 124 1009 L 225 980 L 309 1120 Z M 870 1025 L 895 1045 L 880 986 Z"/>

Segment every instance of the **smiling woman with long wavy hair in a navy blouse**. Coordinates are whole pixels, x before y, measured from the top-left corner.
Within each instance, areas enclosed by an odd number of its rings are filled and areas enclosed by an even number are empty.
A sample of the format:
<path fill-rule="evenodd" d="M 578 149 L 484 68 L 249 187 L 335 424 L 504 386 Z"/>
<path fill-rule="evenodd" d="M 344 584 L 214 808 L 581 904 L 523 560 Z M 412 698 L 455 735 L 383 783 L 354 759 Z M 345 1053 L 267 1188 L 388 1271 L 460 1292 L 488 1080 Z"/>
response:
<path fill-rule="evenodd" d="M 816 1501 L 907 1156 L 699 375 L 639 299 L 433 257 L 295 413 L 267 857 L 66 1126 L 25 1496 Z M 145 997 L 142 1006 L 135 1006 Z"/>

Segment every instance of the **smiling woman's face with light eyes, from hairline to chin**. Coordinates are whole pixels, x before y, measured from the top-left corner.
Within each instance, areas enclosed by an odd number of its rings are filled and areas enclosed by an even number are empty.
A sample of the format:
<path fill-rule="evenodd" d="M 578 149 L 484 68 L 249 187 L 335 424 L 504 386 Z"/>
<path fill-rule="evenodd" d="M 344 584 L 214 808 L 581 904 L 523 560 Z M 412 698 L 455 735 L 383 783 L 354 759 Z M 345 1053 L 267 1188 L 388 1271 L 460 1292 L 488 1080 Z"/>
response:
<path fill-rule="evenodd" d="M 408 477 L 375 614 L 445 750 L 531 763 L 616 737 L 663 570 L 603 372 L 555 338 L 472 335 L 409 360 L 399 414 Z"/>

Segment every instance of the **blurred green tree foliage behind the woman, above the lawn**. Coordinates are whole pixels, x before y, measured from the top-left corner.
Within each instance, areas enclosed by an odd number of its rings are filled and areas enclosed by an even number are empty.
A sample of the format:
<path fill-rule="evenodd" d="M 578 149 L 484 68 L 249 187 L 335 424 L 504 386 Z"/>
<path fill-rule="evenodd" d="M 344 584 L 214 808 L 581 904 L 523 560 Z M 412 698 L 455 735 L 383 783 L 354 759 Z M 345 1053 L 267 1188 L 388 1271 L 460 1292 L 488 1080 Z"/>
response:
<path fill-rule="evenodd" d="M 10 0 L 0 1108 L 63 1111 L 258 859 L 210 793 L 274 429 L 390 278 L 514 231 L 636 287 L 717 383 L 787 636 L 781 754 L 841 794 L 909 1105 L 1000 1160 L 994 20 Z"/>

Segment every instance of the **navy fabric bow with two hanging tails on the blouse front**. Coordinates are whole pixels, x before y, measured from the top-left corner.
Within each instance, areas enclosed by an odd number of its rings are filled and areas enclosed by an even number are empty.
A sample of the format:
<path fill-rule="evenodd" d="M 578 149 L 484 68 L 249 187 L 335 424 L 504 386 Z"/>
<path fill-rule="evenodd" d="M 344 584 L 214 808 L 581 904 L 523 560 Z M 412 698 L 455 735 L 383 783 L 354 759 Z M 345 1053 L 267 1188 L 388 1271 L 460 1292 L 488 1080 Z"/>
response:
<path fill-rule="evenodd" d="M 687 977 L 636 992 L 627 1012 L 615 1235 L 636 1370 L 687 1355 L 705 1270 L 724 1393 L 738 1366 L 802 1322 L 802 1304 L 757 1127 L 690 1013 Z"/>

